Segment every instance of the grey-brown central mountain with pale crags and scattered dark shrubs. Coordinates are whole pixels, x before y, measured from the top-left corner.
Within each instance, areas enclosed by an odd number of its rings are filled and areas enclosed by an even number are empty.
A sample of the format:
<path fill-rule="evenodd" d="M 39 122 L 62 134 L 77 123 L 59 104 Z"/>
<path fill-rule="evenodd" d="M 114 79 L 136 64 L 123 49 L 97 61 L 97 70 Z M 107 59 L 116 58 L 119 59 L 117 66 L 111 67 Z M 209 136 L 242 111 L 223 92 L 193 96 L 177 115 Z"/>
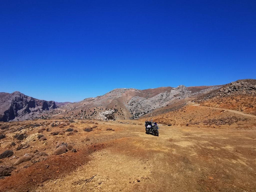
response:
<path fill-rule="evenodd" d="M 108 111 L 106 114 L 111 112 L 111 119 L 136 119 L 156 109 L 168 105 L 173 106 L 172 103 L 189 98 L 192 95 L 210 92 L 219 88 L 217 86 L 189 87 L 192 91 L 183 85 L 176 88 L 160 87 L 145 90 L 119 88 L 102 96 L 63 105 L 59 108 L 62 112 L 55 111 L 56 113 L 53 115 L 67 119 L 105 119 L 104 112 Z M 198 92 L 193 92 L 194 90 L 198 90 Z M 113 114 L 111 110 L 113 110 Z"/>

